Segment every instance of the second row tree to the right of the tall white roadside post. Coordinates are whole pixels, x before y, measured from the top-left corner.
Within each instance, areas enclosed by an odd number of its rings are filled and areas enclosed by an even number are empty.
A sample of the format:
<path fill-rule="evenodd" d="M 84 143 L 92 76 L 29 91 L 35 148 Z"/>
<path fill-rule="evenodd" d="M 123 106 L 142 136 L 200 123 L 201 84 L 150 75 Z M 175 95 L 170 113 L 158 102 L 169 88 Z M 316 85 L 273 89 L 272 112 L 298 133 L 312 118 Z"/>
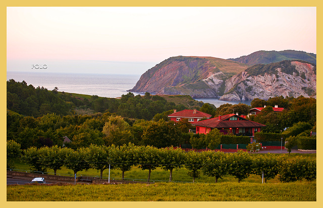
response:
<path fill-rule="evenodd" d="M 148 170 L 148 182 L 151 171 L 155 170 L 161 164 L 160 149 L 153 146 L 139 146 L 135 158 L 141 170 Z"/>

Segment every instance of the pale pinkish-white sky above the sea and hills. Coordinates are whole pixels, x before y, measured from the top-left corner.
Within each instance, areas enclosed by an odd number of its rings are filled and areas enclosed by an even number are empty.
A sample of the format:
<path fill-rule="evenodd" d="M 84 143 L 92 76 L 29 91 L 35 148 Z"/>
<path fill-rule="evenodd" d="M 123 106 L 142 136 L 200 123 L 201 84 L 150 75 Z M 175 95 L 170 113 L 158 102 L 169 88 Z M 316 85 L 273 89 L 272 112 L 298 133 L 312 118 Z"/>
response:
<path fill-rule="evenodd" d="M 142 74 L 285 49 L 316 54 L 315 7 L 7 7 L 7 71 Z"/>

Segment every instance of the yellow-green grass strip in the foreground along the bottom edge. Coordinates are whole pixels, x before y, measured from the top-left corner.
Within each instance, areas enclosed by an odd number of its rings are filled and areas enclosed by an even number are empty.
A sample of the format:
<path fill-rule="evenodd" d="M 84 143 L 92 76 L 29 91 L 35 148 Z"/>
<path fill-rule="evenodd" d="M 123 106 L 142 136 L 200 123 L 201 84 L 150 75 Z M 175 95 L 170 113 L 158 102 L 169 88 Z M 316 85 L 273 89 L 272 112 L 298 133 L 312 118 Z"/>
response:
<path fill-rule="evenodd" d="M 316 201 L 316 182 L 10 185 L 7 201 Z"/>

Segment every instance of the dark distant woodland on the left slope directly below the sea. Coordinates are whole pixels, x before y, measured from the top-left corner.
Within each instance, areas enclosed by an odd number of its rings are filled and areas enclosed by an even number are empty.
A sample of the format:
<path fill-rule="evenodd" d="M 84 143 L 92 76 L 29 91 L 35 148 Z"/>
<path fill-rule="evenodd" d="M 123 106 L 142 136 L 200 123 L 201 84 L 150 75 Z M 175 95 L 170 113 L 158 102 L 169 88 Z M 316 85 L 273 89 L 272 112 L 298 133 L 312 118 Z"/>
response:
<path fill-rule="evenodd" d="M 200 108 L 200 106 L 192 107 Z M 27 85 L 25 81 L 7 81 L 7 109 L 24 116 L 34 118 L 55 113 L 60 116 L 73 115 L 78 110 L 94 113 L 116 113 L 127 118 L 151 120 L 157 113 L 172 109 L 184 110 L 184 105 L 175 105 L 158 95 L 134 95 L 129 92 L 120 99 L 93 96 L 76 97 L 70 93 L 59 92 L 55 87 L 47 90 L 44 87 Z"/>

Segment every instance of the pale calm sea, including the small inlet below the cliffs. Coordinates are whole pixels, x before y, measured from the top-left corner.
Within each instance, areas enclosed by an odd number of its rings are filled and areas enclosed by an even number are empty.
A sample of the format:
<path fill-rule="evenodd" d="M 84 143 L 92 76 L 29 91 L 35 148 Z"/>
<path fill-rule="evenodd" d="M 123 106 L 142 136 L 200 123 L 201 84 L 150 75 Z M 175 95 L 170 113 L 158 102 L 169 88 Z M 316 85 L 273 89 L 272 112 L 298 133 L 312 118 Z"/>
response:
<path fill-rule="evenodd" d="M 45 87 L 52 90 L 58 87 L 58 91 L 98 95 L 101 97 L 121 97 L 132 89 L 141 75 L 118 74 L 74 74 L 74 73 L 48 73 L 48 72 L 10 72 L 7 71 L 7 80 L 16 82 L 23 80 L 34 87 Z M 139 93 L 133 92 L 135 95 Z M 142 93 L 140 93 L 142 94 Z M 239 101 L 222 101 L 217 98 L 200 98 L 198 101 L 208 102 L 217 108 L 225 103 L 237 104 Z M 250 105 L 251 101 L 241 101 Z"/>

